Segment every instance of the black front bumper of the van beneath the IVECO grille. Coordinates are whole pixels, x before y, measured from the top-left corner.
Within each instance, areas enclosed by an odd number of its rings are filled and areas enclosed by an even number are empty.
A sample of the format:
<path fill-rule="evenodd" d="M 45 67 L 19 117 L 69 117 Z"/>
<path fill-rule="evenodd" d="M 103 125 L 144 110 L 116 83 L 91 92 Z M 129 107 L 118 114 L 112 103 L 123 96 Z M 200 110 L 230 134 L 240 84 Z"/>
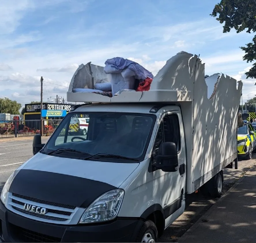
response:
<path fill-rule="evenodd" d="M 0 201 L 2 242 L 135 242 L 142 225 L 142 220 L 130 218 L 97 225 L 44 223 L 10 212 Z"/>

